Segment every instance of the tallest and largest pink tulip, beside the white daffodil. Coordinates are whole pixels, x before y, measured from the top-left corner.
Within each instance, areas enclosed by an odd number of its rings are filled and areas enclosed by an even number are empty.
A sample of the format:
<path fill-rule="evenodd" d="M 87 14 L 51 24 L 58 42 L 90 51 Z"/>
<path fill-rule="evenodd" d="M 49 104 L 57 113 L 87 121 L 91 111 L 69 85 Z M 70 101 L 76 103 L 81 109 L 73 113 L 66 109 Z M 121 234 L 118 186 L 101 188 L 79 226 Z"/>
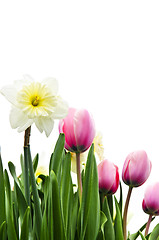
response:
<path fill-rule="evenodd" d="M 95 137 L 95 124 L 85 109 L 70 108 L 66 118 L 59 122 L 59 132 L 65 134 L 65 148 L 71 152 L 84 152 Z"/>

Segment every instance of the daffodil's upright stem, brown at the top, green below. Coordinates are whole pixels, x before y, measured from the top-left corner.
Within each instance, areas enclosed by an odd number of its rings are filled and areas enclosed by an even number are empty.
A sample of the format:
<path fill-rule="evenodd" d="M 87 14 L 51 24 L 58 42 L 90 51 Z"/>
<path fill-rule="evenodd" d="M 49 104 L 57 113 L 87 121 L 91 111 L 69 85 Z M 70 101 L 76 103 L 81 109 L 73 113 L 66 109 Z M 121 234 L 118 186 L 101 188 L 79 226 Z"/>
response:
<path fill-rule="evenodd" d="M 24 134 L 24 189 L 25 189 L 25 198 L 30 205 L 30 189 L 29 189 L 29 165 L 28 165 L 28 145 L 30 141 L 30 131 L 31 127 L 25 130 Z"/>

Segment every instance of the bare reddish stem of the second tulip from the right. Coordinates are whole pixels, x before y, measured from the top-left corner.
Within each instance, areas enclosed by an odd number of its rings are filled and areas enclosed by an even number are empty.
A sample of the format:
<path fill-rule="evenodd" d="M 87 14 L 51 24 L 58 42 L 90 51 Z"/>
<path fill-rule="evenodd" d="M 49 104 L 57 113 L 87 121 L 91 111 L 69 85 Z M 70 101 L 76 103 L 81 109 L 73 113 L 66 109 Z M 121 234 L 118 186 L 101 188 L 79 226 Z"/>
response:
<path fill-rule="evenodd" d="M 126 202 L 125 202 L 125 207 L 124 207 L 124 214 L 123 214 L 123 234 L 124 234 L 124 240 L 127 239 L 127 213 L 128 213 L 128 206 L 129 206 L 129 201 L 132 193 L 132 187 L 129 187 Z"/>

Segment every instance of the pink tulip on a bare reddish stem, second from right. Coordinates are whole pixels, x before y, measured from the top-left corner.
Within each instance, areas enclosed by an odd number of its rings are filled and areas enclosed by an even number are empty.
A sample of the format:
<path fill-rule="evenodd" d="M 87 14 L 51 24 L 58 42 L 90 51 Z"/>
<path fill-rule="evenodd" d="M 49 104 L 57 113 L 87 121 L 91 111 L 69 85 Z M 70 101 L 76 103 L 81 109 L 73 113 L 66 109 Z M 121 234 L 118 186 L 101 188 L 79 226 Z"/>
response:
<path fill-rule="evenodd" d="M 124 163 L 122 179 L 131 187 L 142 185 L 151 172 L 151 162 L 145 151 L 130 153 Z"/>

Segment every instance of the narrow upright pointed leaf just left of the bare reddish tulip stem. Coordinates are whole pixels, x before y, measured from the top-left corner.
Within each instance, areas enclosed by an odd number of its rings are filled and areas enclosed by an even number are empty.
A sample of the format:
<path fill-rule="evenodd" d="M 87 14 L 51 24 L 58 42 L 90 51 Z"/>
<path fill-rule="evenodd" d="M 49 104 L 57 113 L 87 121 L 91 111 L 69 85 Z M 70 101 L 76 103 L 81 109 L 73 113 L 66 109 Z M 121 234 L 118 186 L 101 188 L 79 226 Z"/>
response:
<path fill-rule="evenodd" d="M 122 216 L 121 212 L 119 209 L 119 203 L 117 202 L 116 198 L 115 199 L 115 207 L 116 207 L 116 217 L 115 217 L 115 222 L 114 222 L 114 230 L 115 230 L 115 239 L 118 240 L 123 240 L 123 226 L 122 226 Z"/>

